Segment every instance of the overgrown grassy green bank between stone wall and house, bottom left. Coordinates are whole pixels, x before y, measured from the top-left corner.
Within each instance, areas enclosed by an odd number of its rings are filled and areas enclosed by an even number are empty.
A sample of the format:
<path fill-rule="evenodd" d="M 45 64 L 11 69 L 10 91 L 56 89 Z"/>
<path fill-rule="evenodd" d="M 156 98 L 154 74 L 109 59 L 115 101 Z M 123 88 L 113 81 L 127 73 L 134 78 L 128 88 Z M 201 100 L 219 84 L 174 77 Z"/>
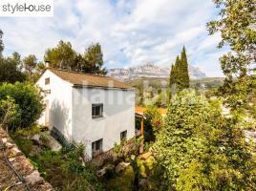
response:
<path fill-rule="evenodd" d="M 80 149 L 62 148 L 59 152 L 49 149 L 34 155 L 32 161 L 40 174 L 48 180 L 56 190 L 104 190 L 96 177 L 96 169 L 89 163 L 83 165 Z"/>

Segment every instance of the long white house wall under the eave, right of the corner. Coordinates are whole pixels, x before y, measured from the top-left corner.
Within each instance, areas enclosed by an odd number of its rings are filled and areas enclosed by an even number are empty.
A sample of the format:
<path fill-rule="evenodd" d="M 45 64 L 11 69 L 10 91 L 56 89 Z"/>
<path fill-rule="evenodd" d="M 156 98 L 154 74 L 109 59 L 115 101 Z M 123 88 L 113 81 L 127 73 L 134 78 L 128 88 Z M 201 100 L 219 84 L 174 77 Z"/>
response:
<path fill-rule="evenodd" d="M 134 90 L 74 88 L 73 138 L 86 145 L 92 155 L 92 142 L 103 138 L 104 152 L 120 142 L 120 133 L 127 130 L 127 138 L 135 137 Z M 92 104 L 103 103 L 103 117 L 92 117 Z"/>

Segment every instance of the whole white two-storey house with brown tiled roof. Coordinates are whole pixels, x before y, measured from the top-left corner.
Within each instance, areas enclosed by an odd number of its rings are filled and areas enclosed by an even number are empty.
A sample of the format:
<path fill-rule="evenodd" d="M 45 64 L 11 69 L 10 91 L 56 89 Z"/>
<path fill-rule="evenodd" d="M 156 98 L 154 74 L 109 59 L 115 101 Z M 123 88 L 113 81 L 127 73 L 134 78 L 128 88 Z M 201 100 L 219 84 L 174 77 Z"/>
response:
<path fill-rule="evenodd" d="M 49 68 L 36 85 L 45 96 L 39 124 L 83 142 L 92 158 L 135 136 L 135 90 L 109 76 Z"/>

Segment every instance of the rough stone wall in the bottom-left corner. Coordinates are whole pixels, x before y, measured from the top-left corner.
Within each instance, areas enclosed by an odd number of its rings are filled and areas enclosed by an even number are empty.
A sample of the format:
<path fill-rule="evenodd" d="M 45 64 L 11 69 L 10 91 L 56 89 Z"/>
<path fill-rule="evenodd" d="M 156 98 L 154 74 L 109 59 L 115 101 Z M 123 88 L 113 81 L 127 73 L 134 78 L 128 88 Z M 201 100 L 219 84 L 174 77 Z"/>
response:
<path fill-rule="evenodd" d="M 11 166 L 27 182 L 21 183 L 14 171 L 8 165 L 6 158 L 10 161 Z M 19 182 L 19 183 L 18 183 Z M 14 184 L 18 185 L 14 185 Z M 0 190 L 23 191 L 50 191 L 53 187 L 50 183 L 40 177 L 39 172 L 32 166 L 32 163 L 18 149 L 17 145 L 9 135 L 0 127 Z"/>

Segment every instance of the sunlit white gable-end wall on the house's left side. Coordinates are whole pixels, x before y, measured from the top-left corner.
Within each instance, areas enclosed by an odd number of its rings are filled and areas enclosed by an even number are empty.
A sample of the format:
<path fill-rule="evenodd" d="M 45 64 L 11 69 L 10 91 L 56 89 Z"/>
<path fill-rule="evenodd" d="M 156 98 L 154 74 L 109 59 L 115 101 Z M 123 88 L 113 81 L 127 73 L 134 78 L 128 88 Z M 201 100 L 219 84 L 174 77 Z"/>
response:
<path fill-rule="evenodd" d="M 45 85 L 45 78 L 50 77 L 50 84 Z M 72 138 L 72 84 L 62 80 L 50 71 L 46 71 L 36 82 L 42 90 L 51 90 L 51 94 L 45 95 L 49 100 L 49 125 L 56 127 L 66 138 Z M 45 125 L 43 112 L 39 118 L 39 124 Z"/>

